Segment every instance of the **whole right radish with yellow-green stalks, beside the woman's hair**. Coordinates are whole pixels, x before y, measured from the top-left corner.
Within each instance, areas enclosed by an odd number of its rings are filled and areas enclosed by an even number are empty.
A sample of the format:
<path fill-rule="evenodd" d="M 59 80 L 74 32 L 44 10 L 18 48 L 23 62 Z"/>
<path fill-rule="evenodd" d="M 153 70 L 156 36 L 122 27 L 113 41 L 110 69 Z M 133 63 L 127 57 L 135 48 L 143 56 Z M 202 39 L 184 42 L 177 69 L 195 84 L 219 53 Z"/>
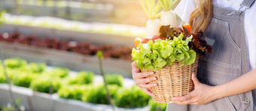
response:
<path fill-rule="evenodd" d="M 178 0 L 160 0 L 160 5 L 163 7 L 160 20 L 163 26 L 177 26 L 176 15 L 172 11 L 172 5 L 175 5 L 177 1 Z"/>

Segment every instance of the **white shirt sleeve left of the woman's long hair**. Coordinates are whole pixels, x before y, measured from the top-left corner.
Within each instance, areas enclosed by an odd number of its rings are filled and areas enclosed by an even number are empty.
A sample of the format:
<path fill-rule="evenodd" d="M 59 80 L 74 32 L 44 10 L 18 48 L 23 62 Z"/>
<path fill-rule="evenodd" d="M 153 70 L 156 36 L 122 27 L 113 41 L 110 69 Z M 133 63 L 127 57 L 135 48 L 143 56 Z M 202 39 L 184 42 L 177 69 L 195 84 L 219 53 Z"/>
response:
<path fill-rule="evenodd" d="M 195 9 L 194 0 L 181 0 L 174 12 L 181 18 L 182 21 L 188 23 L 190 13 Z"/>

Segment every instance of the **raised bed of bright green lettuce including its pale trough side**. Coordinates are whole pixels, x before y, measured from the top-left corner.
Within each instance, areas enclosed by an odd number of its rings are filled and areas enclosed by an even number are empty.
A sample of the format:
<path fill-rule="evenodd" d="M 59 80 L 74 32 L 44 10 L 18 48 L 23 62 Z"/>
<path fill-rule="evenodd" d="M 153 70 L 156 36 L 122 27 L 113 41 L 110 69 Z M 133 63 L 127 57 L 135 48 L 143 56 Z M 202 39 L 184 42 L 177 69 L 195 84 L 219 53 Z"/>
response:
<path fill-rule="evenodd" d="M 20 58 L 6 59 L 5 64 L 11 83 L 15 85 L 12 87 L 14 95 L 26 110 L 111 110 L 107 105 L 102 77 L 90 71 L 75 73 L 66 68 L 27 63 Z M 114 105 L 119 107 L 117 110 L 149 109 L 146 107 L 149 96 L 142 89 L 133 86 L 133 80 L 123 80 L 120 75 L 107 74 L 106 81 Z M 10 98 L 8 85 L 5 83 L 3 67 L 0 65 L 1 106 L 6 105 Z"/>

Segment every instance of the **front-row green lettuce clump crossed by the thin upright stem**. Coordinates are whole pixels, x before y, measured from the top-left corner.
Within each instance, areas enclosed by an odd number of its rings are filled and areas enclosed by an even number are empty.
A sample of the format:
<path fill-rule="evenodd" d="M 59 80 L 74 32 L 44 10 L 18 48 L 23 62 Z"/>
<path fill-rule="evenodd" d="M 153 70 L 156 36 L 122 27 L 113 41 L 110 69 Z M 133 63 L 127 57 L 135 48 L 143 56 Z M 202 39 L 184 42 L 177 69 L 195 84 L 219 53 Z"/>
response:
<path fill-rule="evenodd" d="M 117 96 L 118 89 L 120 88 L 116 85 L 108 86 L 111 98 L 115 98 L 115 96 Z M 96 86 L 95 88 L 91 89 L 90 92 L 85 92 L 82 101 L 93 104 L 109 104 L 107 98 L 107 91 L 103 85 Z"/>

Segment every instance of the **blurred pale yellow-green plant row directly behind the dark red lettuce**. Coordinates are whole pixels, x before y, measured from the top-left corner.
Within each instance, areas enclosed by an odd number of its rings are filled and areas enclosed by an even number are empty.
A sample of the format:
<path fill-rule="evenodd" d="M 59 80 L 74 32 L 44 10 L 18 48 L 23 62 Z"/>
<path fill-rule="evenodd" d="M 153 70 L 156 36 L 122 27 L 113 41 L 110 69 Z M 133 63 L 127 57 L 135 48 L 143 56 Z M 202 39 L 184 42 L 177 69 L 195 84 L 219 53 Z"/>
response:
<path fill-rule="evenodd" d="M 43 28 L 55 28 L 69 31 L 82 31 L 87 33 L 115 34 L 127 37 L 143 37 L 145 28 L 108 23 L 81 23 L 71 20 L 63 20 L 54 17 L 31 17 L 4 14 L 5 23 L 20 26 L 35 26 Z"/>

